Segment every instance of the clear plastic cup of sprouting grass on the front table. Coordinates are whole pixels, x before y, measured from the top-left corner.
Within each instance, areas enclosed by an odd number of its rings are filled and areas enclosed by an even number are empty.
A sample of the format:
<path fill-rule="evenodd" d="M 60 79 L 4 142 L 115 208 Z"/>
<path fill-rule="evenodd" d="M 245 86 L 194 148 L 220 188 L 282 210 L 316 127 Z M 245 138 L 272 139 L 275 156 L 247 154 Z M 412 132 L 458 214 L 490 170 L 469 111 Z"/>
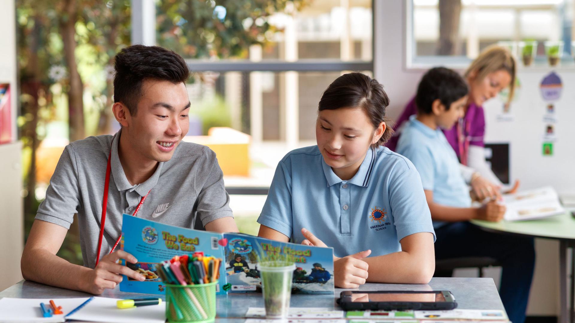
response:
<path fill-rule="evenodd" d="M 292 295 L 292 277 L 296 265 L 275 267 L 271 263 L 258 264 L 262 277 L 262 295 L 266 305 L 266 318 L 287 318 L 290 296 Z"/>

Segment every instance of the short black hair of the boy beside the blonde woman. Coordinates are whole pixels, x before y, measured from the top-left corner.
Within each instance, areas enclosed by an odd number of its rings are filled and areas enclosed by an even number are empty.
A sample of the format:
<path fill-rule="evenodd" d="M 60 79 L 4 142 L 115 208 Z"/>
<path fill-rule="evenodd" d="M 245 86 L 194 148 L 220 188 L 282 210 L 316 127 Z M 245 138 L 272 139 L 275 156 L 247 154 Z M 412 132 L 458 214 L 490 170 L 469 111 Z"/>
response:
<path fill-rule="evenodd" d="M 431 106 L 436 99 L 449 110 L 451 103 L 467 95 L 467 83 L 457 72 L 445 67 L 434 67 L 425 72 L 415 95 L 417 111 L 430 114 Z"/>

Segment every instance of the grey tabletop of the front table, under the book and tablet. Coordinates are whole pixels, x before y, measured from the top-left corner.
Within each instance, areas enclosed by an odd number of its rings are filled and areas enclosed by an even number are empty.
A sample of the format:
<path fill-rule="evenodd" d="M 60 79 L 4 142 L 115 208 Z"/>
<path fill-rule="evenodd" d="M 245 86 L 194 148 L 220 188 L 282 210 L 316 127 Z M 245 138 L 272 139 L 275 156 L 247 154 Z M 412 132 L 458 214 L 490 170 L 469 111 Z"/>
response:
<path fill-rule="evenodd" d="M 433 278 L 429 284 L 378 284 L 366 283 L 356 290 L 448 290 L 455 296 L 459 309 L 504 310 L 497 288 L 491 278 Z M 327 307 L 340 309 L 335 302 L 343 289 L 335 289 L 333 295 L 292 295 L 292 307 Z M 81 291 L 61 289 L 40 283 L 22 280 L 0 292 L 2 297 L 14 298 L 70 298 L 90 297 Z M 106 290 L 101 297 L 135 298 L 146 294 L 125 293 Z M 217 317 L 227 322 L 241 321 L 248 307 L 263 307 L 260 294 L 229 294 L 217 296 Z M 228 320 L 229 319 L 229 320 Z"/>

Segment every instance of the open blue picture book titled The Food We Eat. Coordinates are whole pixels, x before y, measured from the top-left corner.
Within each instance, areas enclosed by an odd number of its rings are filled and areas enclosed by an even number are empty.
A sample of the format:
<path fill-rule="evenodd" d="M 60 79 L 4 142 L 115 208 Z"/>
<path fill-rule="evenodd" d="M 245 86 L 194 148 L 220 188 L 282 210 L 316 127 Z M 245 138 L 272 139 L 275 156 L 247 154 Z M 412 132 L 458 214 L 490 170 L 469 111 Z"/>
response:
<path fill-rule="evenodd" d="M 144 281 L 124 276 L 120 291 L 164 294 L 165 283 L 156 266 L 173 256 L 203 252 L 223 260 L 218 294 L 261 293 L 258 255 L 293 259 L 293 294 L 333 294 L 333 248 L 281 243 L 241 233 L 216 233 L 180 228 L 124 214 L 120 247 L 136 257 L 126 264 L 145 276 Z"/>

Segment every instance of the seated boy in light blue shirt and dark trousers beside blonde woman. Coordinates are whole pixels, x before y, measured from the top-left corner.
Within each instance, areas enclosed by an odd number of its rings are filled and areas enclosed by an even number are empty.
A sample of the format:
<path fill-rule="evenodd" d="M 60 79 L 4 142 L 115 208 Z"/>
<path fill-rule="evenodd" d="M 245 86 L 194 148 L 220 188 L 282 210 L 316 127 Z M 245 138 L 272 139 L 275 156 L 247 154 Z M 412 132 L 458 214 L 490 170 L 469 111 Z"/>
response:
<path fill-rule="evenodd" d="M 500 221 L 505 206 L 489 201 L 471 207 L 470 190 L 453 148 L 440 128 L 450 129 L 465 114 L 467 85 L 456 72 L 429 70 L 419 83 L 413 116 L 402 130 L 397 152 L 417 168 L 437 234 L 436 259 L 489 256 L 503 267 L 501 301 L 513 323 L 523 323 L 533 269 L 533 239 L 485 232 L 472 219 Z"/>

